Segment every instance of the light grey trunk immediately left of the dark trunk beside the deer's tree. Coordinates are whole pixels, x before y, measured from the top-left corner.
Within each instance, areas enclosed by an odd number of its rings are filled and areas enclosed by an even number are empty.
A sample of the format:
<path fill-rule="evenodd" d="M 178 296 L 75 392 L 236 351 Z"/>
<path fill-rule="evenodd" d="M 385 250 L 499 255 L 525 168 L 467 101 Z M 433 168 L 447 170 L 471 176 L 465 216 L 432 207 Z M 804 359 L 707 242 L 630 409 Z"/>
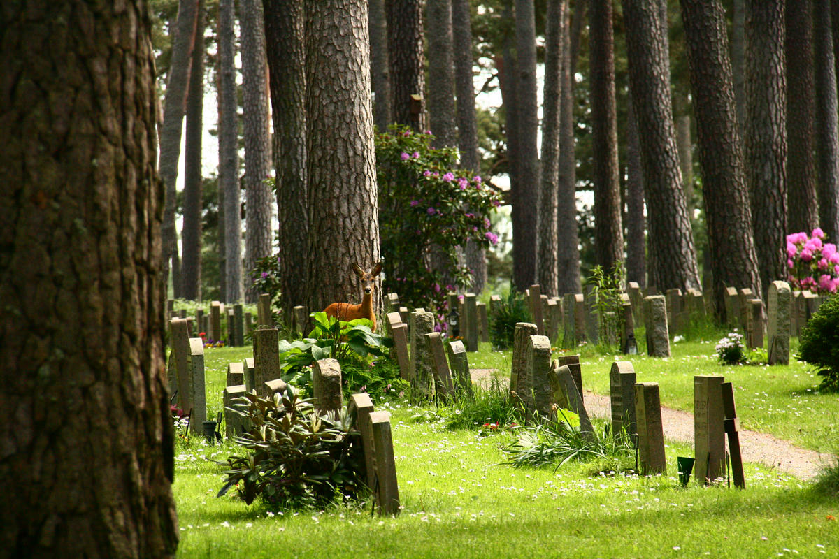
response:
<path fill-rule="evenodd" d="M 245 300 L 256 303 L 250 272 L 271 255 L 274 196 L 265 182 L 271 170 L 268 64 L 262 0 L 239 0 L 242 29 L 242 137 L 245 143 Z"/>

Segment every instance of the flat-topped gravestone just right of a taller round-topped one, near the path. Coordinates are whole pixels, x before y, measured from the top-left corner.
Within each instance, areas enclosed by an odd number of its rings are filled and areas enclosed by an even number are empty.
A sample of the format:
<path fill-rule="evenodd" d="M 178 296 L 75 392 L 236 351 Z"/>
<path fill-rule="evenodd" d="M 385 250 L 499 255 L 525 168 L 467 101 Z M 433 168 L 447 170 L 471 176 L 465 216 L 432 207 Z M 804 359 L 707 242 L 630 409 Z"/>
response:
<path fill-rule="evenodd" d="M 638 466 L 641 474 L 666 474 L 659 383 L 639 382 L 633 388 L 635 417 L 638 419 Z"/>

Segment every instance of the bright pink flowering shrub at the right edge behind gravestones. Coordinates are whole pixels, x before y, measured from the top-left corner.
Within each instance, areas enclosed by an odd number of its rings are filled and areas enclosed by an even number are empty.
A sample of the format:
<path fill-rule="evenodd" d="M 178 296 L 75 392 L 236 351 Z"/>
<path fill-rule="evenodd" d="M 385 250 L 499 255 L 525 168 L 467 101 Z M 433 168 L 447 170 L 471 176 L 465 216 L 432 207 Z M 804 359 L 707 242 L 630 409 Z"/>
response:
<path fill-rule="evenodd" d="M 787 236 L 787 267 L 793 289 L 835 293 L 839 288 L 839 252 L 836 245 L 824 240 L 824 231 L 818 227 L 812 236 L 803 231 Z"/>

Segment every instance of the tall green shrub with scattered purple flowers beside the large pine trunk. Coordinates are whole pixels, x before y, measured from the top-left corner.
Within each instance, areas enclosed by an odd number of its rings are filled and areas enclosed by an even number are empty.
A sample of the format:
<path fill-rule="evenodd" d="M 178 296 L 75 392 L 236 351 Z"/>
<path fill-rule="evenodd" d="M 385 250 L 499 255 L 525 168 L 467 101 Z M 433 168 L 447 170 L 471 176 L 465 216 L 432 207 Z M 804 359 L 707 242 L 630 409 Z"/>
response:
<path fill-rule="evenodd" d="M 454 168 L 456 150 L 431 148 L 432 139 L 407 127 L 376 136 L 378 223 L 384 288 L 409 306 L 435 310 L 442 322 L 446 292 L 471 281 L 456 247 L 498 242 L 489 215 L 501 201 L 481 177 Z M 432 249 L 444 269 L 432 265 Z"/>

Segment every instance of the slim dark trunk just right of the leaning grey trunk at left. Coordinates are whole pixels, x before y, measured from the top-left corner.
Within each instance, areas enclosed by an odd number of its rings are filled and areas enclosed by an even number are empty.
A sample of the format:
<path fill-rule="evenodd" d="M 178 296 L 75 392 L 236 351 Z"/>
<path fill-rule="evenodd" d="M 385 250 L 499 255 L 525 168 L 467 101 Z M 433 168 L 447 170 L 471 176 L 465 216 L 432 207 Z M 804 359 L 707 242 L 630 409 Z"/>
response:
<path fill-rule="evenodd" d="M 186 101 L 184 145 L 184 228 L 181 232 L 181 294 L 201 301 L 201 144 L 204 134 L 204 0 L 198 3 L 198 24 L 192 49 L 190 91 Z"/>

